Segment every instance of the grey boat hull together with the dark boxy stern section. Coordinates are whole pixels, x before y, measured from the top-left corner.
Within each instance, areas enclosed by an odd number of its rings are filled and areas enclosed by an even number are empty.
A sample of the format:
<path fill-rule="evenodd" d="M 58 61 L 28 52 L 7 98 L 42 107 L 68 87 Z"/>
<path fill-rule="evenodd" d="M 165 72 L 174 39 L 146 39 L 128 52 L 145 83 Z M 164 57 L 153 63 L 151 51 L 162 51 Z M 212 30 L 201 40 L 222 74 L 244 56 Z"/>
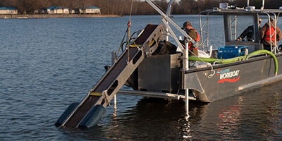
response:
<path fill-rule="evenodd" d="M 139 91 L 162 92 L 164 95 L 184 95 L 184 90 L 188 89 L 197 101 L 214 102 L 282 80 L 282 66 L 278 65 L 275 75 L 276 66 L 271 56 L 256 56 L 213 66 L 202 63 L 190 66 L 189 70 L 182 69 L 180 58 L 180 53 L 146 58 L 134 75 L 137 79 L 134 87 Z M 276 54 L 276 59 L 281 62 L 282 54 Z"/>

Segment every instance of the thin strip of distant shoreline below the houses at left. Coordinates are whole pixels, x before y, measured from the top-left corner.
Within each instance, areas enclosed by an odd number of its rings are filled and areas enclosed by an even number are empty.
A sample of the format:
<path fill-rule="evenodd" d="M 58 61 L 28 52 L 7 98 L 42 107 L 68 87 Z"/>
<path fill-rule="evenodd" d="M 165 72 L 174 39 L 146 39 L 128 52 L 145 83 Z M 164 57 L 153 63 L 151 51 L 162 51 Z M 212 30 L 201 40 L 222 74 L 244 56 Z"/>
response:
<path fill-rule="evenodd" d="M 99 18 L 121 17 L 116 15 L 97 14 L 0 14 L 0 18 Z"/>

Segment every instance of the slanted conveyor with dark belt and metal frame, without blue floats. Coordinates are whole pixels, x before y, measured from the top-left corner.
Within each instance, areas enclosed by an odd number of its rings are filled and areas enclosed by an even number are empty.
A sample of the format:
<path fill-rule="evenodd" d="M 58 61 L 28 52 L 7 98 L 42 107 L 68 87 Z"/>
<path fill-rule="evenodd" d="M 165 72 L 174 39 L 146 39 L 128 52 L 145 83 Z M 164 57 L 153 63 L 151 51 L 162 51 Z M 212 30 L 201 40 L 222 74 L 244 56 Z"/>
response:
<path fill-rule="evenodd" d="M 129 61 L 128 50 L 118 58 L 118 61 L 111 66 L 103 77 L 97 82 L 97 84 L 90 90 L 85 99 L 79 104 L 79 106 L 71 113 L 66 121 L 61 126 L 68 128 L 78 127 L 82 119 L 85 117 L 88 111 L 94 105 L 109 105 L 111 99 L 120 90 L 125 81 L 135 71 L 135 68 L 143 61 L 148 54 L 147 51 L 154 52 L 157 44 L 151 44 L 158 41 L 162 37 L 161 25 L 147 25 L 142 34 L 135 40 L 135 44 L 140 44 L 140 48 L 129 49 Z M 149 47 L 148 47 L 149 46 Z"/>

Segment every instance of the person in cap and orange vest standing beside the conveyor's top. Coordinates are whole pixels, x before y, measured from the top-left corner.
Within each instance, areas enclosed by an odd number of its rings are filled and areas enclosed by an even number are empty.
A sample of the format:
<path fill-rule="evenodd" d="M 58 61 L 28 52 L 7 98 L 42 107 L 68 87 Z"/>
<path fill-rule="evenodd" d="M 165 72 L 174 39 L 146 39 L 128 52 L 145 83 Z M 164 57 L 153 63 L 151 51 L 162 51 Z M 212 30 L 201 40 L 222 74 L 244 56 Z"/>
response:
<path fill-rule="evenodd" d="M 197 30 L 195 30 L 195 28 L 192 27 L 192 24 L 189 21 L 186 21 L 185 23 L 183 23 L 183 30 L 185 30 L 185 32 L 192 38 L 195 40 L 195 42 L 199 42 L 200 41 L 200 35 L 197 33 Z M 186 37 L 184 37 L 184 40 L 186 39 Z M 194 47 L 192 45 L 192 42 L 188 43 L 188 49 L 189 51 L 189 55 L 192 56 L 198 56 L 198 49 L 196 47 Z"/>

